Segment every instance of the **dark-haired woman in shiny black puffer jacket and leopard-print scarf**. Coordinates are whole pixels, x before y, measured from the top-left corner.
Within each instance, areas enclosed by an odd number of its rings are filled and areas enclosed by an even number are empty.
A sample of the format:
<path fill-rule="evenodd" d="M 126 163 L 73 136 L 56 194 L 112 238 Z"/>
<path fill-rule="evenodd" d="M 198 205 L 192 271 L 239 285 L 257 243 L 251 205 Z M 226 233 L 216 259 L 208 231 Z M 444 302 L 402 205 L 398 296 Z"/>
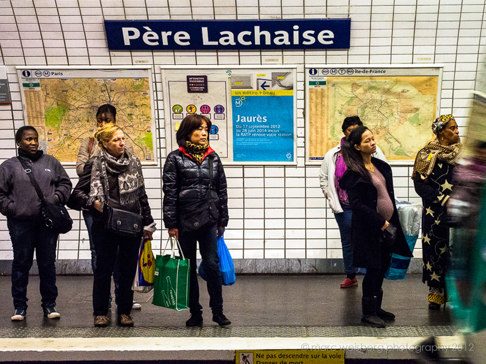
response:
<path fill-rule="evenodd" d="M 186 326 L 202 326 L 196 275 L 196 241 L 207 275 L 209 307 L 219 326 L 231 322 L 223 314 L 223 289 L 217 255 L 217 238 L 228 225 L 226 176 L 219 156 L 209 147 L 211 121 L 202 115 L 188 115 L 175 137 L 179 149 L 167 156 L 162 177 L 164 224 L 169 236 L 179 239 L 189 258 L 191 280 Z"/>

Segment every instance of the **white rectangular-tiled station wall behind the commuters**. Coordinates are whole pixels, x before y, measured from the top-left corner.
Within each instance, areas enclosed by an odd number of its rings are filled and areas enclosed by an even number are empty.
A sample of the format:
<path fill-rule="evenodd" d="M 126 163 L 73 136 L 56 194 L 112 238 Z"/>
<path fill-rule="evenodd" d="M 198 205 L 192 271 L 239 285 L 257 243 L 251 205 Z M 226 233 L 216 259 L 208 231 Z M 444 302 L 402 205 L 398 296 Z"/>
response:
<path fill-rule="evenodd" d="M 484 0 L 70 0 L 0 2 L 0 63 L 7 66 L 11 105 L 0 105 L 0 162 L 15 156 L 14 131 L 23 125 L 17 65 L 297 64 L 298 166 L 226 167 L 230 224 L 225 233 L 234 258 L 341 258 L 339 230 L 318 182 L 318 167 L 305 166 L 305 63 L 444 63 L 441 113 L 466 123 L 477 62 L 486 53 L 482 37 Z M 399 3 L 399 4 L 397 4 Z M 329 51 L 109 52 L 104 19 L 351 18 L 351 48 Z M 421 58 L 419 60 L 419 58 Z M 430 58 L 425 59 L 424 58 Z M 156 68 L 155 68 L 156 69 Z M 154 75 L 156 115 L 162 118 L 162 83 Z M 163 119 L 158 119 L 159 155 L 165 155 Z M 163 228 L 161 168 L 145 167 L 148 195 Z M 76 181 L 74 168 L 66 168 Z M 393 165 L 399 200 L 418 202 L 409 166 Z M 89 259 L 80 213 L 76 228 L 62 235 L 59 259 Z M 156 250 L 167 239 L 156 234 Z M 422 252 L 417 245 L 415 256 Z M 163 249 L 163 247 L 162 247 Z M 5 217 L 0 217 L 0 259 L 12 259 Z"/>

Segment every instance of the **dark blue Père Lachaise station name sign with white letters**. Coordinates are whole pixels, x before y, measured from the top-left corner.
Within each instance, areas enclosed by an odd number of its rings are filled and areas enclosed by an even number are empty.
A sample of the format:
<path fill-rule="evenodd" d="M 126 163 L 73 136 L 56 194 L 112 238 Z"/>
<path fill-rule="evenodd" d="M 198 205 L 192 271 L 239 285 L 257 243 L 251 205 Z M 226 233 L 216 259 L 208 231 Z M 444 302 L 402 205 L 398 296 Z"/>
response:
<path fill-rule="evenodd" d="M 351 19 L 105 20 L 108 49 L 347 49 Z"/>

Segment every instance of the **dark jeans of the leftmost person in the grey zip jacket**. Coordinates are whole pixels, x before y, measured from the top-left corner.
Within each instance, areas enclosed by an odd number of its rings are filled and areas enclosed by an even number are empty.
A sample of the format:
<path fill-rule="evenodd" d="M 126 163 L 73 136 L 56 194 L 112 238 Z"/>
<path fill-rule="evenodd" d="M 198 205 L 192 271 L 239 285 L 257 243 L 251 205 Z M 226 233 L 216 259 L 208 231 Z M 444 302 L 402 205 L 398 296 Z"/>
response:
<path fill-rule="evenodd" d="M 40 220 L 9 217 L 7 227 L 12 240 L 12 298 L 15 309 L 27 309 L 29 271 L 35 258 L 39 268 L 42 307 L 56 305 L 56 246 L 58 234 Z"/>

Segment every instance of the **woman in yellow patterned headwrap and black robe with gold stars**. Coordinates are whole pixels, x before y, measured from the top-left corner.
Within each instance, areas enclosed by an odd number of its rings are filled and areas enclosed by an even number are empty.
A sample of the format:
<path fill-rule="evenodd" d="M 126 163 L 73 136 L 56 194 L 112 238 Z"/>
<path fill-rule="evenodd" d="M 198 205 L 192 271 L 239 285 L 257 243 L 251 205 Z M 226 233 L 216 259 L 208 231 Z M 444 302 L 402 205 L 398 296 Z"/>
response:
<path fill-rule="evenodd" d="M 422 197 L 422 281 L 429 287 L 430 309 L 445 304 L 445 274 L 449 264 L 449 226 L 446 204 L 452 193 L 452 174 L 462 144 L 452 115 L 440 115 L 432 124 L 436 139 L 418 151 L 413 165 L 415 191 Z"/>

